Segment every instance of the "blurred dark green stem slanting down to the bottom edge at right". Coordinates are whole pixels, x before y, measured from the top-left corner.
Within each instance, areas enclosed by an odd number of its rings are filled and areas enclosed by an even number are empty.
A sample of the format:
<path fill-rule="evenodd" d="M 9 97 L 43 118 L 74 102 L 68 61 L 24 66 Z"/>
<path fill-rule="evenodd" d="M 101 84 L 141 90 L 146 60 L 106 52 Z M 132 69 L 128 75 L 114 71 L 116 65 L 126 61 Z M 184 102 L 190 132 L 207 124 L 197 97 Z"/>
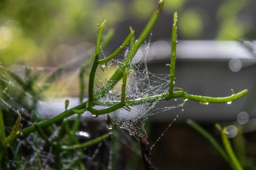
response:
<path fill-rule="evenodd" d="M 186 123 L 198 131 L 201 135 L 203 135 L 209 142 L 213 145 L 213 147 L 221 154 L 221 156 L 229 163 L 229 165 L 233 169 L 233 163 L 231 162 L 229 156 L 226 154 L 225 150 L 221 148 L 219 143 L 213 138 L 211 134 L 209 134 L 206 130 L 204 130 L 200 125 L 198 125 L 194 120 L 188 119 Z"/>

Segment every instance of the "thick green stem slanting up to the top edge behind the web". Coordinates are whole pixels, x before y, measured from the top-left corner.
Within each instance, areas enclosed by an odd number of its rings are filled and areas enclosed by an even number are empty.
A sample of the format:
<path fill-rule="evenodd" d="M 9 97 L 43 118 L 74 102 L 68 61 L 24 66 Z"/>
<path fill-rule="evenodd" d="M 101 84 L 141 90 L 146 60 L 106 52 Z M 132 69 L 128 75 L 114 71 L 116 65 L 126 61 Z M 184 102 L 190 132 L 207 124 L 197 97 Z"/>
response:
<path fill-rule="evenodd" d="M 104 96 L 107 92 L 109 92 L 115 84 L 123 77 L 123 72 L 125 71 L 126 68 L 130 66 L 130 62 L 132 61 L 133 57 L 135 56 L 136 52 L 138 51 L 139 47 L 141 44 L 143 44 L 145 38 L 149 34 L 150 30 L 152 29 L 153 25 L 155 24 L 161 10 L 164 4 L 164 0 L 159 1 L 159 5 L 154 12 L 153 16 L 147 23 L 145 29 L 139 36 L 139 38 L 134 42 L 134 48 L 132 48 L 127 57 L 125 58 L 124 62 L 119 66 L 119 68 L 115 71 L 115 73 L 111 76 L 111 78 L 107 81 L 105 86 L 101 87 L 98 92 L 94 94 L 94 100 L 100 99 L 102 96 Z"/>

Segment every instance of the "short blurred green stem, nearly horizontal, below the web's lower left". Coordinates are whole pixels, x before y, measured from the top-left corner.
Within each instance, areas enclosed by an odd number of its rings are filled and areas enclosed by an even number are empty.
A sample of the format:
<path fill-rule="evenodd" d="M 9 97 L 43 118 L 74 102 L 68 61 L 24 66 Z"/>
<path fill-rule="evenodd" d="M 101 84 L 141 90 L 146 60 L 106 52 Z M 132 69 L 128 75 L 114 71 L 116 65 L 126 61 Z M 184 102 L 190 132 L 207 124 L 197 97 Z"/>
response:
<path fill-rule="evenodd" d="M 76 150 L 76 149 L 80 149 L 80 148 L 84 148 L 84 147 L 89 147 L 89 146 L 92 146 L 94 144 L 101 142 L 103 139 L 109 138 L 111 135 L 112 135 L 112 132 L 109 132 L 105 135 L 102 135 L 102 136 L 96 138 L 96 139 L 92 139 L 92 140 L 89 140 L 89 141 L 81 143 L 81 144 L 62 145 L 61 149 L 62 150 Z"/>

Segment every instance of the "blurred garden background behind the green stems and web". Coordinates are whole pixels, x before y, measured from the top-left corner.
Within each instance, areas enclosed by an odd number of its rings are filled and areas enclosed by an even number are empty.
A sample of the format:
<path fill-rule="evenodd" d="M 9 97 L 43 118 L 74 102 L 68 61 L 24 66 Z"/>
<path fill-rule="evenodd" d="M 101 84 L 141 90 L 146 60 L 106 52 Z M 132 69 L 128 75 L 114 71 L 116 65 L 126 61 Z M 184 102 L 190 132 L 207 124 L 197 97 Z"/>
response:
<path fill-rule="evenodd" d="M 0 87 L 3 92 L 0 93 L 0 105 L 6 128 L 11 130 L 17 119 L 12 108 L 21 110 L 24 117 L 22 123 L 26 126 L 33 110 L 38 120 L 42 120 L 63 111 L 67 98 L 71 106 L 78 105 L 79 68 L 94 52 L 98 32 L 96 24 L 104 19 L 108 21 L 103 38 L 109 30 L 114 30 L 113 38 L 101 53 L 101 57 L 109 56 L 130 33 L 129 26 L 135 30 L 136 38 L 140 35 L 157 4 L 157 0 L 1 0 Z M 178 11 L 175 87 L 191 94 L 213 97 L 229 96 L 231 88 L 234 92 L 243 89 L 249 92 L 229 105 L 205 106 L 188 101 L 179 119 L 152 149 L 152 162 L 157 169 L 231 169 L 208 140 L 186 124 L 186 119 L 198 122 L 220 143 L 220 133 L 214 123 L 235 126 L 232 131 L 240 135 L 231 136 L 230 141 L 237 157 L 245 169 L 256 169 L 255 7 L 254 0 L 165 1 L 150 36 L 148 71 L 169 74 L 165 65 L 170 62 L 173 13 Z M 144 54 L 144 49 L 138 51 L 138 56 Z M 122 55 L 119 57 L 122 59 Z M 15 73 L 25 84 L 31 82 L 27 92 L 33 96 L 41 92 L 37 101 L 42 103 L 30 101 L 23 93 L 17 92 L 16 87 L 8 89 L 5 81 L 13 79 L 8 78 L 6 70 Z M 56 70 L 60 71 L 58 78 L 45 81 Z M 86 73 L 88 76 L 90 67 Z M 33 78 L 38 79 L 36 83 Z M 85 82 L 87 89 L 88 79 Z M 87 91 L 84 97 L 88 97 Z M 180 101 L 171 100 L 171 104 L 170 101 L 163 101 L 160 105 L 174 106 Z M 243 119 L 248 121 L 239 124 L 238 115 L 241 112 L 246 112 Z M 151 144 L 170 124 L 173 116 L 169 111 L 163 111 L 148 120 L 146 128 Z M 104 123 L 101 118 L 84 116 L 80 131 L 89 135 L 83 136 L 85 139 L 82 140 L 107 133 L 109 130 Z M 103 147 L 101 144 L 84 150 L 87 169 L 142 169 L 137 140 L 119 127 L 113 131 L 118 135 L 106 141 Z M 13 148 L 19 145 L 17 140 Z M 26 148 L 24 145 L 19 151 L 19 161 L 24 164 L 21 169 L 26 169 L 29 164 L 23 162 L 31 163 L 31 154 L 24 153 Z M 45 163 L 43 168 L 50 166 L 50 163 Z M 14 165 L 12 168 L 15 169 Z"/>

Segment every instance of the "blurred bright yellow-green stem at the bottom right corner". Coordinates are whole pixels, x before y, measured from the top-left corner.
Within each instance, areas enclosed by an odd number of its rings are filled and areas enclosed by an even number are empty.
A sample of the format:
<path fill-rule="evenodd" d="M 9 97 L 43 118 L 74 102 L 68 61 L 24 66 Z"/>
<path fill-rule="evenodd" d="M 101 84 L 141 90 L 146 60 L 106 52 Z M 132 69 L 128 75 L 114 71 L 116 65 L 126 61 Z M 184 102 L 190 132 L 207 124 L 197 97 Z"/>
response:
<path fill-rule="evenodd" d="M 235 169 L 236 170 L 243 170 L 242 166 L 238 162 L 238 160 L 235 156 L 235 153 L 234 153 L 234 151 L 231 147 L 230 141 L 229 141 L 228 136 L 226 134 L 226 130 L 227 130 L 227 127 L 224 127 L 222 132 L 221 132 L 221 138 L 222 138 L 223 145 L 224 145 L 232 163 L 234 164 Z"/>

